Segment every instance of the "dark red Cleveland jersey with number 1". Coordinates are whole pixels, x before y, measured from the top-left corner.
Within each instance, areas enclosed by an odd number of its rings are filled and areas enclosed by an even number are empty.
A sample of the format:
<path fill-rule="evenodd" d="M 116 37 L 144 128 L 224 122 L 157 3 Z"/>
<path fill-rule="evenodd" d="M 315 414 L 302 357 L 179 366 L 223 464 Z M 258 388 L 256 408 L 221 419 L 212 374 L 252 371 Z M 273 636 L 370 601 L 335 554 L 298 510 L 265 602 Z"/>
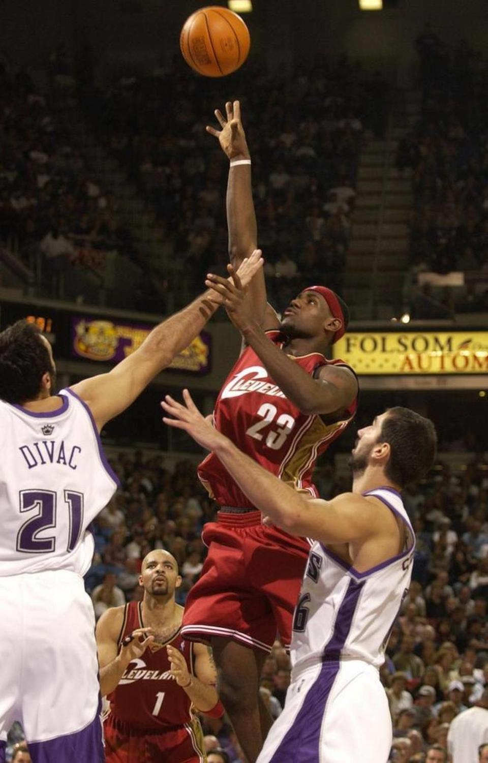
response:
<path fill-rule="evenodd" d="M 126 604 L 119 645 L 136 628 L 143 628 L 141 603 Z M 172 678 L 166 645 L 171 644 L 185 655 L 193 675 L 193 644 L 181 638 L 180 631 L 164 645 L 146 649 L 142 657 L 130 662 L 115 691 L 107 699 L 115 720 L 134 729 L 164 731 L 169 726 L 183 726 L 193 719 L 188 694 Z"/>

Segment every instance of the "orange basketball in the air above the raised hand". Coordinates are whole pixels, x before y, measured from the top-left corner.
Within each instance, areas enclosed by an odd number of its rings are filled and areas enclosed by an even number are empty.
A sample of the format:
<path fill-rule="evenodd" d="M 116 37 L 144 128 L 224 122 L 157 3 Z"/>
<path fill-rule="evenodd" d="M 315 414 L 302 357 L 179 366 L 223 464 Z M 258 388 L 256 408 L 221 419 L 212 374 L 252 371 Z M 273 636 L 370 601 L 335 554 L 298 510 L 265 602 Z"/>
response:
<path fill-rule="evenodd" d="M 250 43 L 242 18 L 220 5 L 192 13 L 180 34 L 186 63 L 206 77 L 224 77 L 239 69 L 248 56 Z"/>

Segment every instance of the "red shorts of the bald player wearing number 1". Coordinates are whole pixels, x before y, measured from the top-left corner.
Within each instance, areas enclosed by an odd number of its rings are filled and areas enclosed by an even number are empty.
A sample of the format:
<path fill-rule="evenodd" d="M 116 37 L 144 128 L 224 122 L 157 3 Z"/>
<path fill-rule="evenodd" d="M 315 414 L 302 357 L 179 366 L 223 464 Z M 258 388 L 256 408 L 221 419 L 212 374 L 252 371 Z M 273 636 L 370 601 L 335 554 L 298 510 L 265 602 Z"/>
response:
<path fill-rule="evenodd" d="M 167 731 L 133 729 L 109 713 L 104 720 L 105 763 L 204 763 L 200 723 Z"/>

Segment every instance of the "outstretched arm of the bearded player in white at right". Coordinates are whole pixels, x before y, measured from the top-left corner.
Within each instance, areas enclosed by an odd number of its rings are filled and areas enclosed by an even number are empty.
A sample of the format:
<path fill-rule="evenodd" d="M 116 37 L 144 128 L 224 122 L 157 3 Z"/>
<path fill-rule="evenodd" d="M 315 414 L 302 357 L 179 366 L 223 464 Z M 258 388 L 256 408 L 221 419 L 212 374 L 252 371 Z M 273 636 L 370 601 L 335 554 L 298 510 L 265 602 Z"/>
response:
<path fill-rule="evenodd" d="M 366 540 L 382 532 L 384 512 L 378 511 L 376 499 L 355 493 L 339 495 L 332 501 L 303 497 L 213 429 L 191 400 L 188 390 L 183 391 L 183 398 L 185 405 L 166 395 L 162 407 L 174 418 L 165 416 L 163 421 L 185 430 L 201 446 L 213 451 L 249 501 L 272 523 L 292 535 L 331 544 Z M 384 511 L 389 513 L 386 507 Z"/>

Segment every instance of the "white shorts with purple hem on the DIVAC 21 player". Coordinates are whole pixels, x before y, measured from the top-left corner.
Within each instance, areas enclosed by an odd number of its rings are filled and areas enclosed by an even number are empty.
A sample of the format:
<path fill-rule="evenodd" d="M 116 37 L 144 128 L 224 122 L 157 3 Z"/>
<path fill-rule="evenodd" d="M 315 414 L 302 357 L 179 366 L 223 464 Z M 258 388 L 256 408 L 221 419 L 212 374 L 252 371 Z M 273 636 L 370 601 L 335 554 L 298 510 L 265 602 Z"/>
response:
<path fill-rule="evenodd" d="M 0 761 L 15 720 L 34 763 L 104 760 L 95 617 L 79 575 L 0 577 L 0 665 Z"/>

